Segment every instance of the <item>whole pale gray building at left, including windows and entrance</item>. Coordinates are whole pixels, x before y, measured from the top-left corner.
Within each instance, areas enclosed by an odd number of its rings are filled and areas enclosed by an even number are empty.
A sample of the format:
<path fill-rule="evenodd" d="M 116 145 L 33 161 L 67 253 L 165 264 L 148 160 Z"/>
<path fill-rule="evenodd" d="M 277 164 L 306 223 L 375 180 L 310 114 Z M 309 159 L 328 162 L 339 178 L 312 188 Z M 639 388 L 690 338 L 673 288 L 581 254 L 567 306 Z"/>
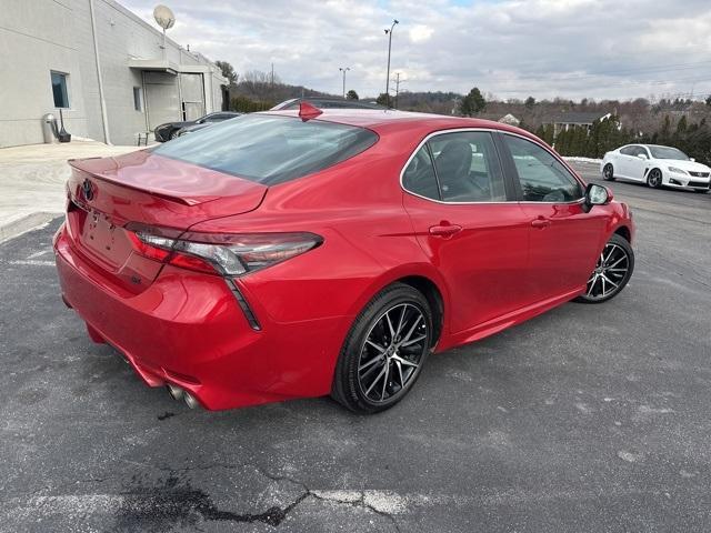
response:
<path fill-rule="evenodd" d="M 41 118 L 60 109 L 69 133 L 113 144 L 223 109 L 214 63 L 163 48 L 113 0 L 0 0 L 0 147 L 43 142 Z"/>

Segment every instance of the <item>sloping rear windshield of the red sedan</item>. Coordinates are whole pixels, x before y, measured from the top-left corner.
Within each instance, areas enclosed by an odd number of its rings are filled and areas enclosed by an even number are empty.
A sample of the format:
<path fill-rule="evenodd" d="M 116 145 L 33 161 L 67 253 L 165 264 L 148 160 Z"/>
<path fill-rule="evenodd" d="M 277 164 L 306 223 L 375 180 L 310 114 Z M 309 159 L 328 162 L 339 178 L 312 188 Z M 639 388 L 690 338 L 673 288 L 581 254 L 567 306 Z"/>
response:
<path fill-rule="evenodd" d="M 271 185 L 332 167 L 377 140 L 353 125 L 249 114 L 173 139 L 153 153 Z"/>

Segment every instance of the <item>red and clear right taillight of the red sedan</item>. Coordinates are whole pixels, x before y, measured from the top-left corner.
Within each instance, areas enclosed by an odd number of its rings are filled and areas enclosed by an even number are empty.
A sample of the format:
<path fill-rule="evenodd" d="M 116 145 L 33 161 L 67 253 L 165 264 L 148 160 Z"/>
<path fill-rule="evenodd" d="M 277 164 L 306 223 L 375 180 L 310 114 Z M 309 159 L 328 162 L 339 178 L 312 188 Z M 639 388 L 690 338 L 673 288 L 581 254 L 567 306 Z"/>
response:
<path fill-rule="evenodd" d="M 313 233 L 186 233 L 167 237 L 129 225 L 134 250 L 177 266 L 222 275 L 241 275 L 300 255 L 323 242 Z"/>

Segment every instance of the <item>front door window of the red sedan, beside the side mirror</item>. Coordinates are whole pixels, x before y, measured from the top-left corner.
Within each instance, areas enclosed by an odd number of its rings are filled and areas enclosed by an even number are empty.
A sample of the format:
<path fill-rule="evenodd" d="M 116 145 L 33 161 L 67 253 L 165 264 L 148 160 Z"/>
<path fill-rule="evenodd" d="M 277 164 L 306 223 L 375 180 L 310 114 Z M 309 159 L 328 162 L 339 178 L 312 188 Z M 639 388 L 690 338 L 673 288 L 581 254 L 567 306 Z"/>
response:
<path fill-rule="evenodd" d="M 573 202 L 582 198 L 580 182 L 548 150 L 520 137 L 503 135 L 527 202 Z"/>

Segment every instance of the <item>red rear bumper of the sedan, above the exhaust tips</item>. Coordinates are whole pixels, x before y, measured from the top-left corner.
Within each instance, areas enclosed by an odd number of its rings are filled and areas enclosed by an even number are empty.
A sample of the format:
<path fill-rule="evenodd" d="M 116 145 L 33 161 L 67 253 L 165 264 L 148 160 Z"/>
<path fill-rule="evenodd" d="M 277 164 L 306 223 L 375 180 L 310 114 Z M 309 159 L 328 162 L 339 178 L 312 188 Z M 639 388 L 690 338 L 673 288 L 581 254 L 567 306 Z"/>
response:
<path fill-rule="evenodd" d="M 64 302 L 91 338 L 119 350 L 147 384 L 176 384 L 211 410 L 330 391 L 342 318 L 274 323 L 257 306 L 257 331 L 220 276 L 167 265 L 143 292 L 127 294 L 63 230 L 54 251 Z"/>

